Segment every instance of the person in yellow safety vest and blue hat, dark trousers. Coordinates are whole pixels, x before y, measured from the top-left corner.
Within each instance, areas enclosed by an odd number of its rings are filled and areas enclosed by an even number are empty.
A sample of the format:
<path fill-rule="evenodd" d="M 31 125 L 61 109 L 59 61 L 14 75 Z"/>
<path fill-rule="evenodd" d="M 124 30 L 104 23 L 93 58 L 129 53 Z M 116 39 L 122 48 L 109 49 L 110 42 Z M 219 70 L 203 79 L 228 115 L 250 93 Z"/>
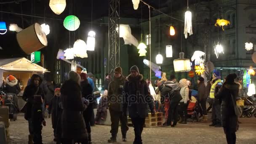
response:
<path fill-rule="evenodd" d="M 215 99 L 216 86 L 221 86 L 221 75 L 217 70 L 213 70 L 213 84 L 211 85 L 210 98 L 212 99 L 212 124 L 209 126 L 221 127 L 221 104 L 219 99 Z"/>

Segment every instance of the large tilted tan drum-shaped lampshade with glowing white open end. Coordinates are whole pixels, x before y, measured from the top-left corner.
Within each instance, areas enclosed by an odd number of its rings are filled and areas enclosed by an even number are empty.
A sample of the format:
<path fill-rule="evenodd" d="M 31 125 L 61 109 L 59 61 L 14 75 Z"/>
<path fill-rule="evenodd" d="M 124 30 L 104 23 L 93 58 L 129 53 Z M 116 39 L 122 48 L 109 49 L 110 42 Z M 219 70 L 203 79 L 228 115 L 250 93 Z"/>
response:
<path fill-rule="evenodd" d="M 47 46 L 45 32 L 43 32 L 42 27 L 38 23 L 18 32 L 16 38 L 21 49 L 27 54 Z"/>

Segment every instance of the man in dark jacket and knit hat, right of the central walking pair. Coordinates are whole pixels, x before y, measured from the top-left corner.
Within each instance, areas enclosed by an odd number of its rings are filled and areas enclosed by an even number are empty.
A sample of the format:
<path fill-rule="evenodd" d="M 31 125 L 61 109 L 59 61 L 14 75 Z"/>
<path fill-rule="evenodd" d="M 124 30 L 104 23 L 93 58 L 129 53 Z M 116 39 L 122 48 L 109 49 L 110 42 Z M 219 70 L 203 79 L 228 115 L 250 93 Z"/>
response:
<path fill-rule="evenodd" d="M 124 86 L 123 114 L 126 113 L 128 108 L 135 133 L 133 144 L 142 144 L 141 133 L 145 124 L 145 118 L 148 116 L 148 106 L 151 114 L 155 115 L 154 103 L 146 81 L 139 74 L 139 68 L 137 66 L 131 67 L 130 73 L 127 77 L 128 81 L 125 82 Z"/>

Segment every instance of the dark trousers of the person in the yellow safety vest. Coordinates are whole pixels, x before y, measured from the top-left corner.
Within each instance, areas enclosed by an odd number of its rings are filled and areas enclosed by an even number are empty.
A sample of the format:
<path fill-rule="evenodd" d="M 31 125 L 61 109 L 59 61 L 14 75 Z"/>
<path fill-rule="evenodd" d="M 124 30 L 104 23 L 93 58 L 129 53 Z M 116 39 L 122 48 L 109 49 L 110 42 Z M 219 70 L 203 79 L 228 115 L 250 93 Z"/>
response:
<path fill-rule="evenodd" d="M 213 124 L 221 124 L 221 104 L 219 99 L 213 99 L 211 118 Z"/>

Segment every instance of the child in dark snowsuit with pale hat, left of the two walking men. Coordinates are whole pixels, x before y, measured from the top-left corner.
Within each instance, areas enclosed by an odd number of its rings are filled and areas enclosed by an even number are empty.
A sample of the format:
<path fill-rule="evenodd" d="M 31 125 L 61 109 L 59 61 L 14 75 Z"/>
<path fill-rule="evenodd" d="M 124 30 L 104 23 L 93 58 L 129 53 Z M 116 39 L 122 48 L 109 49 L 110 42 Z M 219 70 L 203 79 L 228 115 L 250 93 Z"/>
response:
<path fill-rule="evenodd" d="M 108 102 L 107 102 L 107 90 L 104 91 L 104 94 L 102 95 L 100 101 L 99 101 L 99 107 L 97 109 L 96 117 L 95 117 L 95 123 L 101 124 L 101 122 L 105 122 L 107 118 L 107 108 L 108 108 Z"/>

